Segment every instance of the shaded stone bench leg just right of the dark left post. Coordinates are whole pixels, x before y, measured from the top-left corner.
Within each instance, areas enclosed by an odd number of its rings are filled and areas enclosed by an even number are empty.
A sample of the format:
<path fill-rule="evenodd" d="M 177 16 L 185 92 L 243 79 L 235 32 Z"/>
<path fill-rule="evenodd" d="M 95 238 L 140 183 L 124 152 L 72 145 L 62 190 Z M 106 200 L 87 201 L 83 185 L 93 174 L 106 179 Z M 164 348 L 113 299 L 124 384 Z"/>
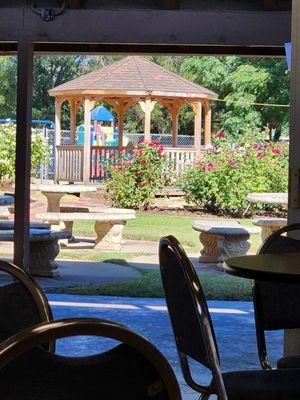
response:
<path fill-rule="evenodd" d="M 58 240 L 31 241 L 29 253 L 29 272 L 36 276 L 55 278 L 59 276 L 55 258 L 59 254 Z"/>

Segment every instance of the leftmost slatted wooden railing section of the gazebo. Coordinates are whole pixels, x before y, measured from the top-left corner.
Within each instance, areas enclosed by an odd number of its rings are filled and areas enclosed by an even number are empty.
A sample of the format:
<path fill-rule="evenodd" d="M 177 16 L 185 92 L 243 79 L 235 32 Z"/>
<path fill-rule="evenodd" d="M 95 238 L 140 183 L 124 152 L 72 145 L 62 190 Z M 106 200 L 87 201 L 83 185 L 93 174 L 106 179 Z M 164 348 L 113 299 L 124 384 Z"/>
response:
<path fill-rule="evenodd" d="M 83 146 L 56 146 L 55 182 L 83 182 Z"/>

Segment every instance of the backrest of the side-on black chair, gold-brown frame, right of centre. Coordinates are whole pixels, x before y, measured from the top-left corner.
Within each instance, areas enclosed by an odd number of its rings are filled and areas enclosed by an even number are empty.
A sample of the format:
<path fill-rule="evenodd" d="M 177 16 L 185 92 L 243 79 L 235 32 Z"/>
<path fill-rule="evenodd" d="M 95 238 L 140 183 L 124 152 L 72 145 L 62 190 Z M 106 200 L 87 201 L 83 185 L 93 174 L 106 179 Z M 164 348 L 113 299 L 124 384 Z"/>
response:
<path fill-rule="evenodd" d="M 218 349 L 206 299 L 193 265 L 173 236 L 160 240 L 159 263 L 185 380 L 200 393 L 216 393 L 218 398 L 225 399 Z M 188 357 L 211 370 L 210 386 L 203 386 L 194 381 Z"/>

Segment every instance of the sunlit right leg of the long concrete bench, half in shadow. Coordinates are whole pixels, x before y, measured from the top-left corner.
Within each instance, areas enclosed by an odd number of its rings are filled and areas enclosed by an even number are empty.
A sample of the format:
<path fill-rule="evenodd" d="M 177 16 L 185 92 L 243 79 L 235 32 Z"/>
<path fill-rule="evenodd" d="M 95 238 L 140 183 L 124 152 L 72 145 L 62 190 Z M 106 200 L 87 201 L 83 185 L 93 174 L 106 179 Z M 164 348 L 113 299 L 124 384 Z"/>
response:
<path fill-rule="evenodd" d="M 94 229 L 96 232 L 95 249 L 97 250 L 121 250 L 123 230 L 125 221 L 96 221 Z"/>

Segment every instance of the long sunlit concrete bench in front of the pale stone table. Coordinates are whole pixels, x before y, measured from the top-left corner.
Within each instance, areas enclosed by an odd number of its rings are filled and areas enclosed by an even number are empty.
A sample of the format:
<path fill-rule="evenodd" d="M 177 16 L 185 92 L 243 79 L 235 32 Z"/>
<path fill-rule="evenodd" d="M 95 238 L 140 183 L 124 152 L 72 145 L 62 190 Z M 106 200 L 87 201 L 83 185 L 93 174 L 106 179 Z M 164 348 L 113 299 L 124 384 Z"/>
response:
<path fill-rule="evenodd" d="M 93 221 L 96 233 L 95 249 L 100 250 L 121 250 L 124 243 L 122 233 L 126 222 L 135 219 L 134 210 L 126 210 L 127 212 L 62 212 L 62 213 L 43 213 L 37 214 L 36 218 L 52 222 L 63 222 L 63 230 L 72 232 L 74 221 Z M 115 209 L 111 209 L 115 210 Z"/>

